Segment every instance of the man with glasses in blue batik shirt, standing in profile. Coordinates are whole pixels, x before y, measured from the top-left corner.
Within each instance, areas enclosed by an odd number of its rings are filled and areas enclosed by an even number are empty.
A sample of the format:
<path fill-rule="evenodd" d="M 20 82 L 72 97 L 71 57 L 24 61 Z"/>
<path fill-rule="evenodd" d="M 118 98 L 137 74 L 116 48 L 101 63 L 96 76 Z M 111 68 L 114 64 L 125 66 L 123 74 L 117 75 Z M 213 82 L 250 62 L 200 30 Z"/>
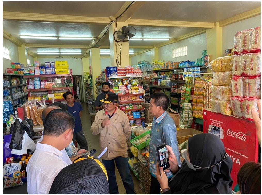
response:
<path fill-rule="evenodd" d="M 149 144 L 149 168 L 151 172 L 150 194 L 160 193 L 160 184 L 156 179 L 156 147 L 166 143 L 173 148 L 176 155 L 177 164 L 181 166 L 180 154 L 177 146 L 177 131 L 174 120 L 166 112 L 169 105 L 169 99 L 164 93 L 153 93 L 150 97 L 149 110 L 154 115 L 152 122 L 151 138 Z M 170 172 L 167 173 L 168 179 L 173 177 Z"/>

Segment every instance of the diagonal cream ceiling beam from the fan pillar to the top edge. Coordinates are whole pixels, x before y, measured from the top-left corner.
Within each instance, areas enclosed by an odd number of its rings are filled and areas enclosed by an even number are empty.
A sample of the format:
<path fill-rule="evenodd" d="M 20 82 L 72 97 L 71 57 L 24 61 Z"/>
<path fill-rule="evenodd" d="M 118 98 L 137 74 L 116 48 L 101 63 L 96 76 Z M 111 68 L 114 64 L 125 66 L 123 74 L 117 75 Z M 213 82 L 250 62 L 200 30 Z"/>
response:
<path fill-rule="evenodd" d="M 140 9 L 146 2 L 145 1 L 135 1 L 130 2 L 126 1 L 124 5 L 118 10 L 116 15 L 114 16 L 117 18 L 119 15 L 121 15 L 130 4 L 132 4 L 128 10 L 117 20 L 118 22 L 125 22 L 128 18 L 130 18 L 135 12 L 137 12 L 138 9 Z"/>

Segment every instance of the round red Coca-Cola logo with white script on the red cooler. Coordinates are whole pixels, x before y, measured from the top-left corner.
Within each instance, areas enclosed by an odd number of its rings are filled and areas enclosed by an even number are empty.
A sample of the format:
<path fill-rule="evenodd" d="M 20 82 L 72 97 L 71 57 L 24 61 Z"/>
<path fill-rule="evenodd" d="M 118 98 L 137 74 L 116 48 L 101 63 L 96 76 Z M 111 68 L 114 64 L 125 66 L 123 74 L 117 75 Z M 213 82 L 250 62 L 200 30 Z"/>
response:
<path fill-rule="evenodd" d="M 247 126 L 246 126 L 247 125 Z M 250 124 L 244 124 L 240 120 L 233 120 L 227 123 L 225 134 L 227 142 L 234 148 L 243 150 L 250 143 Z"/>

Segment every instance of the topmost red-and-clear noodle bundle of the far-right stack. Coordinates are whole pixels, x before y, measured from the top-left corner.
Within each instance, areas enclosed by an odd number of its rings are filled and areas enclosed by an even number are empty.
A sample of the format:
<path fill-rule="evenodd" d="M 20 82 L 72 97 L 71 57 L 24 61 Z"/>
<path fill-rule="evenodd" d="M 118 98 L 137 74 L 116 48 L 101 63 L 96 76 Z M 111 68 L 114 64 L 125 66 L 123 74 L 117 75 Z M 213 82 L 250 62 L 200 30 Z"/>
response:
<path fill-rule="evenodd" d="M 234 37 L 234 54 L 260 52 L 260 26 L 237 32 Z"/>

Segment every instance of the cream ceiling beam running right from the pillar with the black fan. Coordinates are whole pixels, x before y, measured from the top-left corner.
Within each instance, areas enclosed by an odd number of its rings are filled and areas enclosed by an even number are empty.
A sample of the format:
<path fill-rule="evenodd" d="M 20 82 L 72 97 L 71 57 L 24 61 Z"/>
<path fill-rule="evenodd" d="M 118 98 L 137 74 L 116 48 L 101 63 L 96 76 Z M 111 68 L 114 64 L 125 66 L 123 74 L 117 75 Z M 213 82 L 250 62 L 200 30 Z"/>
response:
<path fill-rule="evenodd" d="M 160 26 L 160 27 L 199 27 L 205 29 L 214 28 L 212 22 L 185 22 L 185 21 L 169 21 L 169 20 L 144 20 L 144 19 L 128 19 L 128 25 L 132 26 Z"/>

